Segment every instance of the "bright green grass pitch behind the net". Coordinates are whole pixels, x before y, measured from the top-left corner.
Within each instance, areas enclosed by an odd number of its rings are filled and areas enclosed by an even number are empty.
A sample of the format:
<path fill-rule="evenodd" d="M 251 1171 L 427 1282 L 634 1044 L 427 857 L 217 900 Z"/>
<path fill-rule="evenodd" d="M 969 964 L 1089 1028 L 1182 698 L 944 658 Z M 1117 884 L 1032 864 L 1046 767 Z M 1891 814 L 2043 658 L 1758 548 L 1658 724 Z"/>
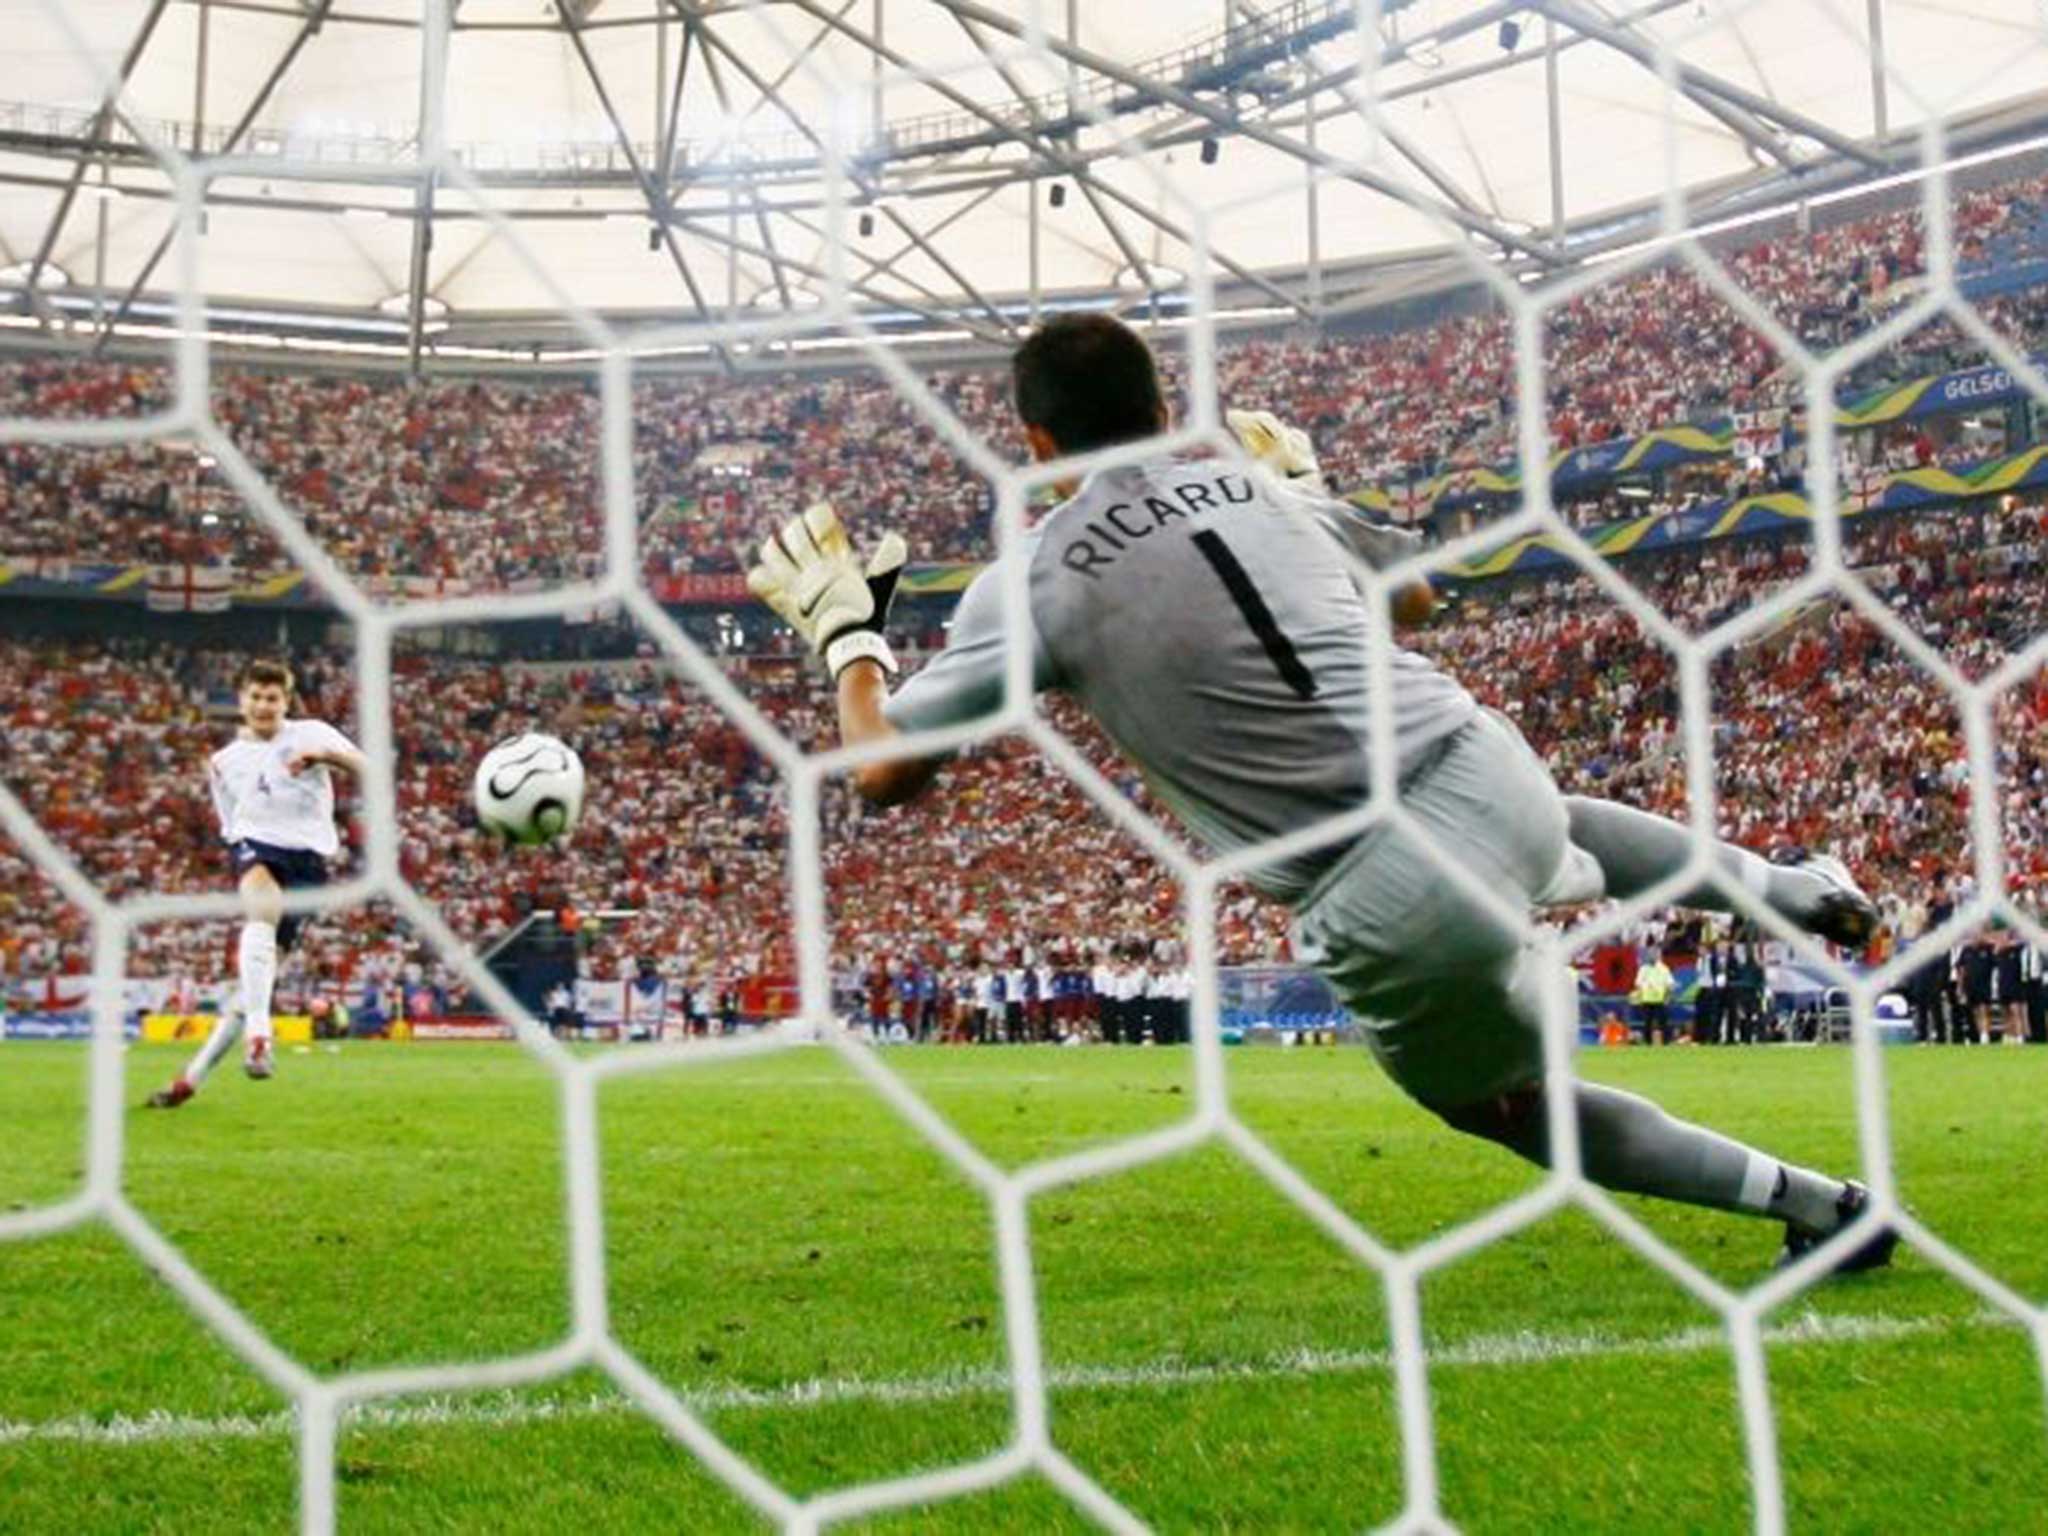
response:
<path fill-rule="evenodd" d="M 127 1059 L 129 1102 L 168 1049 Z M 897 1049 L 973 1143 L 1022 1165 L 1192 1104 L 1174 1051 Z M 1231 1055 L 1243 1118 L 1413 1243 L 1526 1188 L 1405 1104 L 1362 1051 Z M 2048 1298 L 2048 1051 L 1884 1059 L 1907 1200 Z M 78 1188 L 86 1055 L 0 1047 L 0 1210 Z M 1589 1075 L 1827 1167 L 1855 1165 L 1845 1051 L 1593 1053 Z M 977 1194 L 827 1053 L 621 1079 L 600 1100 L 616 1335 L 793 1493 L 1004 1444 L 1001 1309 Z M 287 1051 L 178 1114 L 131 1112 L 137 1206 L 317 1372 L 547 1346 L 567 1317 L 551 1079 L 506 1047 Z M 1712 1274 L 1763 1223 L 1632 1202 Z M 1374 1276 L 1204 1149 L 1032 1204 L 1053 1434 L 1161 1530 L 1358 1530 L 1399 1509 Z M 1423 1290 L 1446 1511 L 1466 1530 L 1739 1532 L 1751 1522 L 1716 1319 L 1579 1212 Z M 1919 1255 L 1774 1323 L 1796 1530 L 2040 1530 L 2048 1425 L 2030 1335 Z M 596 1376 L 403 1399 L 350 1419 L 344 1530 L 643 1532 L 752 1524 Z M 0 1243 L 0 1530 L 287 1530 L 285 1405 L 104 1227 Z M 1081 1530 L 1018 1483 L 872 1522 Z"/>

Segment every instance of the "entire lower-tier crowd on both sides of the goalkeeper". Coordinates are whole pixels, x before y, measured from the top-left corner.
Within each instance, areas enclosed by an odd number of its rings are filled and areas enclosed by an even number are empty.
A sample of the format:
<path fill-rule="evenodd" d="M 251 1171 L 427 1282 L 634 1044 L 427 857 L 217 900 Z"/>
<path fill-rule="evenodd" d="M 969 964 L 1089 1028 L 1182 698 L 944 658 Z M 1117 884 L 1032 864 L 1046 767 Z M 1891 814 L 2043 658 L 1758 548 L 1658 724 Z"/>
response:
<path fill-rule="evenodd" d="M 1847 561 L 1966 676 L 2048 631 L 2048 510 L 1987 506 L 1884 514 L 1847 537 Z M 1628 571 L 1690 629 L 1716 623 L 1806 569 L 1786 539 L 1632 557 Z M 1411 641 L 1516 717 L 1567 791 L 1683 815 L 1686 758 L 1669 653 L 1585 578 L 1485 588 Z M 199 764 L 231 729 L 244 655 L 145 641 L 0 643 L 0 776 L 113 893 L 213 891 L 223 862 Z M 346 653 L 301 662 L 307 713 L 352 725 Z M 799 745 L 825 745 L 831 709 L 807 662 L 727 657 L 733 682 Z M 1968 887 L 1970 791 L 1960 717 L 1917 664 L 1839 602 L 1812 602 L 1712 666 L 1724 834 L 1755 848 L 1827 848 L 1896 922 Z M 522 909 L 641 909 L 606 940 L 604 967 L 649 958 L 670 975 L 788 971 L 782 788 L 743 737 L 664 668 L 625 659 L 508 666 L 401 653 L 393 696 L 406 872 L 467 938 Z M 1112 782 L 1141 780 L 1077 719 L 1057 719 Z M 489 854 L 469 823 L 469 772 L 498 737 L 571 739 L 592 793 L 565 858 Z M 2048 897 L 2048 672 L 1995 715 L 2009 889 Z M 1038 754 L 995 741 L 950 770 L 936 807 L 864 809 L 825 797 L 836 963 L 952 961 L 1180 934 L 1165 872 Z M 1161 817 L 1163 819 L 1163 817 Z M 1249 891 L 1219 903 L 1227 961 L 1286 954 L 1286 918 Z M 133 969 L 211 975 L 223 930 L 162 926 Z M 12 948 L 8 948 L 12 946 Z M 84 932 L 0 846 L 0 971 L 86 965 Z M 389 911 L 324 920 L 299 983 L 432 961 Z"/>

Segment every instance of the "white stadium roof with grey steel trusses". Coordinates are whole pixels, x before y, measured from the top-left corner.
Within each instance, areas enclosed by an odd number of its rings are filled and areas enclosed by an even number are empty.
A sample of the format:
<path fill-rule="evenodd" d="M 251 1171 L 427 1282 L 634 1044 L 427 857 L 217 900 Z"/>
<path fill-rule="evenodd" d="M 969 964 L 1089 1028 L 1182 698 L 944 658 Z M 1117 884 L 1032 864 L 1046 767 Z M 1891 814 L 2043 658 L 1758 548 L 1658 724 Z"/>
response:
<path fill-rule="evenodd" d="M 459 0 L 463 170 L 422 184 L 418 0 L 57 10 L 0 0 L 0 307 L 162 315 L 160 139 L 217 170 L 219 324 L 430 348 L 559 336 L 563 299 L 803 313 L 834 201 L 883 324 L 993 340 L 1032 293 L 1171 309 L 1198 221 L 1227 307 L 1313 313 L 1454 238 L 1538 270 L 1640 238 L 1667 166 L 1706 217 L 1907 164 L 1929 113 L 1958 141 L 2048 117 L 2036 0 L 1384 0 L 1372 70 L 1352 0 Z"/>

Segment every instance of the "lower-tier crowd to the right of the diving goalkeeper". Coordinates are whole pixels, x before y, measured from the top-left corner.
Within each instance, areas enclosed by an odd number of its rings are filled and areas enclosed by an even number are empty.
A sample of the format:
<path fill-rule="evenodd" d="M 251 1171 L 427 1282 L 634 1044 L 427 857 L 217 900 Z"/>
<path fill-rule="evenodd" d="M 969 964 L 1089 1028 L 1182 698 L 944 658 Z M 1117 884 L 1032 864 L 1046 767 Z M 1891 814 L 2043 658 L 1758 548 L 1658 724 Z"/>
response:
<path fill-rule="evenodd" d="M 1966 680 L 2048 633 L 2048 514 L 1974 504 L 1851 524 L 1845 561 Z M 1806 573 L 1788 537 L 1622 561 L 1681 629 L 1704 633 Z M 1671 653 L 1585 575 L 1473 586 L 1417 647 L 1511 715 L 1567 788 L 1681 815 L 1686 754 Z M 1970 784 L 1956 700 L 1841 598 L 1796 604 L 1712 666 L 1720 831 L 1827 848 L 1894 907 L 1970 889 Z M 1872 707 L 1882 700 L 1882 707 Z M 2048 893 L 2048 676 L 1993 711 L 2009 889 Z"/>

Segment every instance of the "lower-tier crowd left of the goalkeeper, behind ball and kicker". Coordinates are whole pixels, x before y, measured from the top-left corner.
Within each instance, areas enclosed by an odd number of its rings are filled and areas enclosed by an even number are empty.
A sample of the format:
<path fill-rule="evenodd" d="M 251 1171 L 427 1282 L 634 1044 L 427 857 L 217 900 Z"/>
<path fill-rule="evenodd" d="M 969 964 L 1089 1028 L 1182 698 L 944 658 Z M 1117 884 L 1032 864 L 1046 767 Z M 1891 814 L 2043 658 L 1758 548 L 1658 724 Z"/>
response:
<path fill-rule="evenodd" d="M 223 887 L 203 764 L 231 733 L 227 700 L 244 659 L 133 641 L 0 643 L 10 700 L 0 707 L 0 776 L 109 895 Z M 344 659 L 311 653 L 299 668 L 301 711 L 350 729 Z M 807 666 L 745 657 L 733 678 L 793 741 L 823 745 L 827 700 Z M 1079 729 L 1073 717 L 1067 725 Z M 481 752 L 532 727 L 571 739 L 598 786 L 559 856 L 498 848 L 467 809 Z M 647 969 L 692 987 L 793 973 L 780 778 L 666 668 L 412 653 L 395 678 L 393 729 L 401 870 L 465 940 L 537 909 L 627 907 L 641 915 L 596 940 L 592 973 Z M 1100 739 L 1087 748 L 1137 793 Z M 1174 954 L 1176 887 L 1040 754 L 1006 739 L 969 752 L 952 772 L 958 793 L 915 819 L 868 811 L 840 786 L 827 793 L 825 881 L 840 956 L 862 967 L 1036 967 L 1055 954 Z M 16 868 L 27 870 L 10 864 L 10 891 Z M 16 954 L 16 973 L 86 963 L 80 915 L 49 909 L 39 934 L 47 942 Z M 1227 901 L 1231 956 L 1274 954 L 1276 918 L 1245 895 Z M 162 924 L 137 936 L 133 969 L 205 983 L 221 954 L 215 926 Z M 385 903 L 311 924 L 293 971 L 315 987 L 381 979 L 459 991 Z"/>

